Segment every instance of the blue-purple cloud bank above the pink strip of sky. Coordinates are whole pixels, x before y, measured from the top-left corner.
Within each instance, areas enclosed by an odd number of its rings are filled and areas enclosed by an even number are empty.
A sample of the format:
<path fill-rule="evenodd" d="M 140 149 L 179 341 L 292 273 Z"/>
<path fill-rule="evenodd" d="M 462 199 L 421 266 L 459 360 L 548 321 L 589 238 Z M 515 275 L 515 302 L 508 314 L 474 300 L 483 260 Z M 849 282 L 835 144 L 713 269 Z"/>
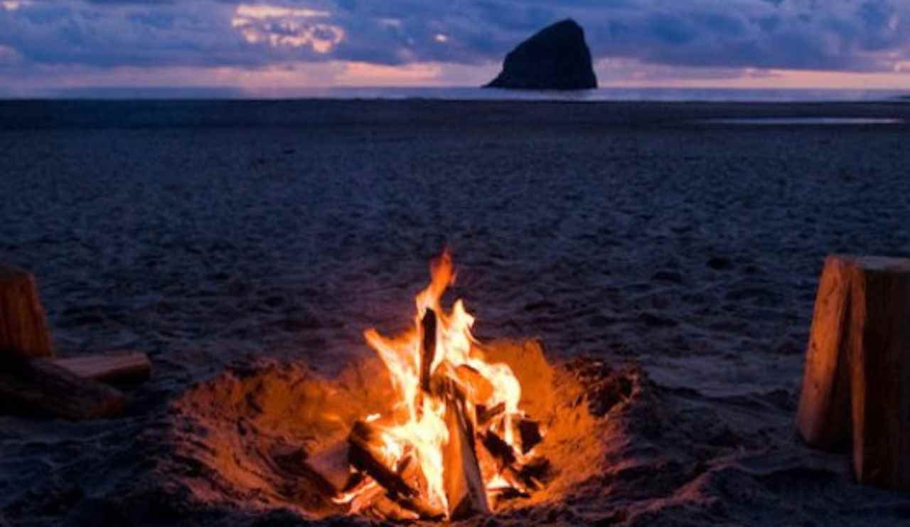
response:
<path fill-rule="evenodd" d="M 910 58 L 904 0 L 35 0 L 0 2 L 24 64 L 489 64 L 571 16 L 597 58 L 658 66 L 889 71 Z M 16 4 L 16 3 L 6 3 Z M 252 7 L 251 7 L 252 6 Z"/>

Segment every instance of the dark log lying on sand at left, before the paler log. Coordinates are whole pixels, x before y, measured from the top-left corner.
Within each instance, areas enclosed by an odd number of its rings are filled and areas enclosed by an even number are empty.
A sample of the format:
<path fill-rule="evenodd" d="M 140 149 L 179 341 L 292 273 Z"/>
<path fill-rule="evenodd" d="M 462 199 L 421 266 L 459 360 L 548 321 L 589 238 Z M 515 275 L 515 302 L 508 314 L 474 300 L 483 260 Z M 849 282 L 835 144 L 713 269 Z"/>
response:
<path fill-rule="evenodd" d="M 73 421 L 119 415 L 126 398 L 96 380 L 82 379 L 49 360 L 0 359 L 0 404 L 27 415 Z"/>

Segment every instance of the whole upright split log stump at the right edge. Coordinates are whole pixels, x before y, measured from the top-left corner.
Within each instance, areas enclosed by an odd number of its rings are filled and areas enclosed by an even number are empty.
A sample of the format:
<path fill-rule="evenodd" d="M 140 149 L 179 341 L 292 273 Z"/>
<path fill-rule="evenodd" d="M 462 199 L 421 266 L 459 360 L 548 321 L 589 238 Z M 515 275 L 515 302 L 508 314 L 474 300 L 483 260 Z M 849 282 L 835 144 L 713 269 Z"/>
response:
<path fill-rule="evenodd" d="M 852 438 L 857 481 L 910 489 L 910 260 L 826 259 L 797 428 L 825 449 Z"/>

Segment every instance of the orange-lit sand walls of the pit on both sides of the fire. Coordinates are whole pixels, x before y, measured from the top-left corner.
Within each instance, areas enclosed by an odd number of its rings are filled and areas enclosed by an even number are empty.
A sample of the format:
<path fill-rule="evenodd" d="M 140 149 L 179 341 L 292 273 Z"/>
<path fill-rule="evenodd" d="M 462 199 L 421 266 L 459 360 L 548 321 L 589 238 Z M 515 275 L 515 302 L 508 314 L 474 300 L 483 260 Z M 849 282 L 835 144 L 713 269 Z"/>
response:
<path fill-rule="evenodd" d="M 501 358 L 513 360 L 517 375 L 537 395 L 523 409 L 541 415 L 548 433 L 540 454 L 552 467 L 543 476 L 544 491 L 503 502 L 497 513 L 539 516 L 564 506 L 566 495 L 605 471 L 611 445 L 624 442 L 608 416 L 638 403 L 642 374 L 605 369 L 595 360 L 551 369 L 536 344 L 493 346 Z M 191 489 L 197 506 L 288 510 L 308 519 L 346 514 L 348 507 L 319 492 L 306 459 L 345 439 L 364 411 L 383 410 L 391 395 L 388 377 L 380 380 L 383 372 L 379 361 L 371 360 L 326 380 L 300 365 L 258 362 L 189 390 L 174 405 L 168 442 L 199 470 L 180 483 Z"/>

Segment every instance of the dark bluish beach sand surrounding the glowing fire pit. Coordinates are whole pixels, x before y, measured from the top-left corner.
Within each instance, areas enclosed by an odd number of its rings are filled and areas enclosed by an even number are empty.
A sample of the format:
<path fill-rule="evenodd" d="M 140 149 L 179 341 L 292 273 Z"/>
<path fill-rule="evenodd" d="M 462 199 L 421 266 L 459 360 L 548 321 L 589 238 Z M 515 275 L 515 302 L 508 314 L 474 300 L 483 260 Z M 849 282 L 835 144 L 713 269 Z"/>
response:
<path fill-rule="evenodd" d="M 0 259 L 58 354 L 155 365 L 123 419 L 0 417 L 0 525 L 303 522 L 188 485 L 175 404 L 238 365 L 369 356 L 446 244 L 481 339 L 646 376 L 602 475 L 503 522 L 907 521 L 793 420 L 824 255 L 910 255 L 910 127 L 704 122 L 733 117 L 910 106 L 0 103 Z"/>

